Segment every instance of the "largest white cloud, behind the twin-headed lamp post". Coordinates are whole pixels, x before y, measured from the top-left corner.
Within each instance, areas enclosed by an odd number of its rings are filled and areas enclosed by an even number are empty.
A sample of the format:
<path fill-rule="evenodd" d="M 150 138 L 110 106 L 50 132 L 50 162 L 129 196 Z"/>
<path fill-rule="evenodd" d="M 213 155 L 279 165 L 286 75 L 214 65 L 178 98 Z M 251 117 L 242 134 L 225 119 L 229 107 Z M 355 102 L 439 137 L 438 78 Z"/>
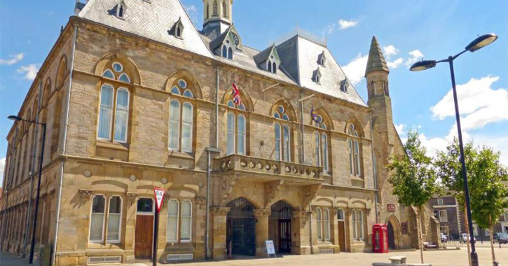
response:
<path fill-rule="evenodd" d="M 462 130 L 474 130 L 488 123 L 508 120 L 508 90 L 494 90 L 492 85 L 497 80 L 497 76 L 472 78 L 457 86 Z M 454 117 L 453 91 L 449 90 L 430 110 L 439 120 Z"/>

